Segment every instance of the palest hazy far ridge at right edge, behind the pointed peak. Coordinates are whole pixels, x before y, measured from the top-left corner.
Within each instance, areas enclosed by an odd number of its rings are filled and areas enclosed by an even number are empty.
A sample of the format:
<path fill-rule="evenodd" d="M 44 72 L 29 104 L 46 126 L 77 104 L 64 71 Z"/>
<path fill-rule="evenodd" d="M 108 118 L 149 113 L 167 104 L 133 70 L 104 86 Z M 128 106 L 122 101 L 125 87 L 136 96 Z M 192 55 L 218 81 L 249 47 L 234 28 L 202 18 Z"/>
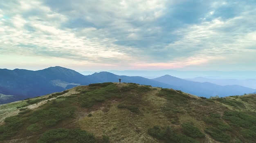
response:
<path fill-rule="evenodd" d="M 188 78 L 185 80 L 190 80 L 195 82 L 211 82 L 216 85 L 240 85 L 243 87 L 256 89 L 256 79 L 239 80 L 239 79 L 215 79 L 215 78 L 196 77 L 196 78 Z"/>

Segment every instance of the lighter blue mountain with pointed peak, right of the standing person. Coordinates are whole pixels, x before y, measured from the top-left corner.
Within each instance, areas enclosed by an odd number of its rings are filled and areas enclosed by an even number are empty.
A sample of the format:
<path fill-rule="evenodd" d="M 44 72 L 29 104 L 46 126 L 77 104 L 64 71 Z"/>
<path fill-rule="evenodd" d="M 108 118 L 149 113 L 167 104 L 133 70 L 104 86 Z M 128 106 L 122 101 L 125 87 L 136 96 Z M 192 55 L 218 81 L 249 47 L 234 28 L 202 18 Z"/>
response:
<path fill-rule="evenodd" d="M 218 95 L 219 97 L 229 95 L 243 95 L 245 93 L 254 93 L 256 91 L 256 89 L 250 89 L 238 85 L 220 86 L 210 82 L 193 82 L 181 78 L 176 78 L 170 75 L 161 76 L 152 80 L 163 82 L 169 85 L 176 85 L 177 87 L 181 87 L 179 90 L 182 90 L 186 93 L 207 98 L 216 95 Z"/>

